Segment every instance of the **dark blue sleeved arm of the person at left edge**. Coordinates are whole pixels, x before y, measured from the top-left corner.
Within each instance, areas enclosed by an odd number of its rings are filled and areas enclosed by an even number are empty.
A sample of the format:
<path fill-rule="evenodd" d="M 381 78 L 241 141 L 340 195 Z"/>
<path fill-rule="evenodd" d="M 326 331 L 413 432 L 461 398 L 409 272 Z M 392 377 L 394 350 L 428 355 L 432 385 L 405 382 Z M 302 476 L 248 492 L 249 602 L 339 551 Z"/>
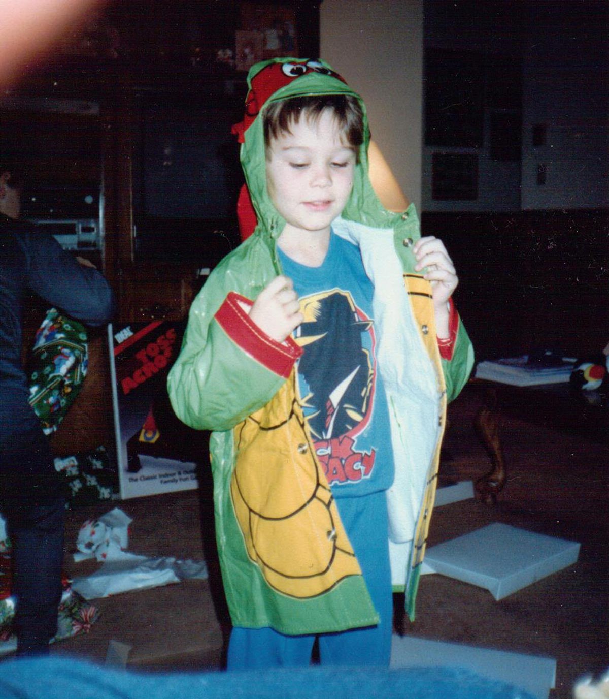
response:
<path fill-rule="evenodd" d="M 82 323 L 107 323 L 115 310 L 110 284 L 94 267 L 83 266 L 45 231 L 22 236 L 27 278 L 36 294 Z"/>

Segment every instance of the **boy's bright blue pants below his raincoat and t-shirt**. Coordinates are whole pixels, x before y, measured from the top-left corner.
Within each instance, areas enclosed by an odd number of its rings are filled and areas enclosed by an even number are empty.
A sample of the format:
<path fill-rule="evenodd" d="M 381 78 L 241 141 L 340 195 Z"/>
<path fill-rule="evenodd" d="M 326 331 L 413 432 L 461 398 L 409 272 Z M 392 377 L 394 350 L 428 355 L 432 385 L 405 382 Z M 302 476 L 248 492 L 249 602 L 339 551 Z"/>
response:
<path fill-rule="evenodd" d="M 316 637 L 322 665 L 388 667 L 391 653 L 393 598 L 388 551 L 385 493 L 337 499 L 337 507 L 376 611 L 377 626 L 337 633 L 288 636 L 272 628 L 233 628 L 228 643 L 228 670 L 303 668 L 311 663 Z"/>

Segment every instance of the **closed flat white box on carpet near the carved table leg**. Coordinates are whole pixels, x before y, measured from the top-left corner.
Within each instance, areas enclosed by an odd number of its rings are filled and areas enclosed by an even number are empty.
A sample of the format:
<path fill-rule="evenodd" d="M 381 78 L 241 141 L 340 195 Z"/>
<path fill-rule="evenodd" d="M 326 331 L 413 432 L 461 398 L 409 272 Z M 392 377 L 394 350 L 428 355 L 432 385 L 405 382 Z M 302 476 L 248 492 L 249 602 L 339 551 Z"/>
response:
<path fill-rule="evenodd" d="M 501 600 L 575 563 L 579 552 L 577 542 L 495 523 L 427 549 L 425 563 Z"/>

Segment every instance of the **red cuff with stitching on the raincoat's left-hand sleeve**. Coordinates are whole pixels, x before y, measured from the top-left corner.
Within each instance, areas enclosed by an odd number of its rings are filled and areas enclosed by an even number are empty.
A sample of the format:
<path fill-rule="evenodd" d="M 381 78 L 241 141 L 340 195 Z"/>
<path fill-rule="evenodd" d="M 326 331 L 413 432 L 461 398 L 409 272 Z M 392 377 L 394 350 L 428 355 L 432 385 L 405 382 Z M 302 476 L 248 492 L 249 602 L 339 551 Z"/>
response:
<path fill-rule="evenodd" d="M 230 291 L 223 304 L 217 310 L 215 318 L 223 331 L 235 345 L 259 361 L 270 371 L 285 379 L 291 374 L 294 362 L 302 354 L 302 349 L 291 337 L 284 343 L 278 343 L 250 320 L 243 305 L 251 308 L 249 298 Z"/>

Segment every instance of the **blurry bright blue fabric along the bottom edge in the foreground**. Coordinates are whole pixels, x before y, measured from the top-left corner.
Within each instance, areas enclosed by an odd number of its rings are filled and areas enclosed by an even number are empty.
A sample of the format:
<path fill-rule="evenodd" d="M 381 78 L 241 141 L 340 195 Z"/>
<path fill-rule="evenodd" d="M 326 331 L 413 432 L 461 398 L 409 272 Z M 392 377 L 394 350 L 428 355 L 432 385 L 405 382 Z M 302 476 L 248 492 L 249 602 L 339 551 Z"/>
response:
<path fill-rule="evenodd" d="M 0 662 L 0 699 L 533 699 L 460 668 L 134 672 L 75 658 Z"/>

